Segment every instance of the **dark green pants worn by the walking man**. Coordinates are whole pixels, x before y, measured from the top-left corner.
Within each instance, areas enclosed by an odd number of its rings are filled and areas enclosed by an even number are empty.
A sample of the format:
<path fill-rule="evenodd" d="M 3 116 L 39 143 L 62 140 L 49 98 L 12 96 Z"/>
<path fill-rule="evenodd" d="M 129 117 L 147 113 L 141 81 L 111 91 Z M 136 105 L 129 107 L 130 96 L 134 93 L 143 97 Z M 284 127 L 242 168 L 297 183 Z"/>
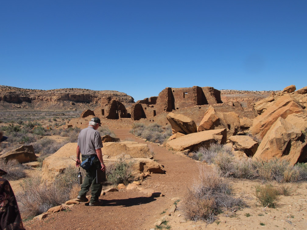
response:
<path fill-rule="evenodd" d="M 82 157 L 82 161 L 86 160 L 85 157 Z M 95 157 L 93 164 L 89 170 L 87 170 L 87 175 L 84 178 L 84 182 L 81 185 L 81 191 L 79 192 L 79 196 L 85 197 L 86 193 L 88 192 L 89 188 L 92 186 L 92 192 L 91 192 L 91 200 L 90 202 L 93 203 L 95 201 L 98 201 L 99 196 L 101 194 L 102 190 L 102 184 L 96 183 L 96 169 L 101 169 L 100 161 L 98 157 Z"/>

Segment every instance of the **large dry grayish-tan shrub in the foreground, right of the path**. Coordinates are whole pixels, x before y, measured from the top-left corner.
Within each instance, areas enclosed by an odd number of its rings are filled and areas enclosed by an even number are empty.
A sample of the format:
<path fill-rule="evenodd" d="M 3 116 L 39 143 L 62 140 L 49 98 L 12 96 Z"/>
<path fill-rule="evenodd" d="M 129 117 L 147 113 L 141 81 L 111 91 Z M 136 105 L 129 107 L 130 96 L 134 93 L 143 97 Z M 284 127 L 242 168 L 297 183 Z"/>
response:
<path fill-rule="evenodd" d="M 179 209 L 189 220 L 212 223 L 223 210 L 244 205 L 243 200 L 232 196 L 231 186 L 218 171 L 204 167 L 200 168 L 198 180 L 188 189 Z"/>

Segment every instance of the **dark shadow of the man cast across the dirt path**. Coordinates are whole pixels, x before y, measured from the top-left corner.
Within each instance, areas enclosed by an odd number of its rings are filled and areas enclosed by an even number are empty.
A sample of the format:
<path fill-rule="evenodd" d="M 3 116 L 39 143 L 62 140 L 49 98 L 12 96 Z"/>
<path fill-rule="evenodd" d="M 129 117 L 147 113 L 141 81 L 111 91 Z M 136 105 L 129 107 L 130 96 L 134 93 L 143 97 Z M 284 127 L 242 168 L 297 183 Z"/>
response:
<path fill-rule="evenodd" d="M 134 205 L 148 204 L 152 201 L 157 200 L 156 197 L 159 197 L 160 194 L 161 193 L 156 192 L 156 193 L 153 193 L 150 197 L 134 197 L 134 198 L 127 198 L 127 199 L 99 200 L 101 201 L 101 204 L 97 206 L 131 207 Z M 88 203 L 86 205 L 88 205 Z"/>

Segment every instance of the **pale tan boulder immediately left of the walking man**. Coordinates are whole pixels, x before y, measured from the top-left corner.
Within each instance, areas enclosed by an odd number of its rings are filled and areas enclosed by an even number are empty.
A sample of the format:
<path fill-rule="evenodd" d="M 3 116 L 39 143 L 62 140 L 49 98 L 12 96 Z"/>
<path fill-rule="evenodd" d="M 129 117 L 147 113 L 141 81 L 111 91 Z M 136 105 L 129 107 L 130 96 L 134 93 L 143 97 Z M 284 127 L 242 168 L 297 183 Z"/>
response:
<path fill-rule="evenodd" d="M 58 151 L 46 157 L 43 161 L 42 179 L 53 181 L 55 176 L 63 172 L 68 166 L 74 166 L 77 143 L 67 143 Z"/>

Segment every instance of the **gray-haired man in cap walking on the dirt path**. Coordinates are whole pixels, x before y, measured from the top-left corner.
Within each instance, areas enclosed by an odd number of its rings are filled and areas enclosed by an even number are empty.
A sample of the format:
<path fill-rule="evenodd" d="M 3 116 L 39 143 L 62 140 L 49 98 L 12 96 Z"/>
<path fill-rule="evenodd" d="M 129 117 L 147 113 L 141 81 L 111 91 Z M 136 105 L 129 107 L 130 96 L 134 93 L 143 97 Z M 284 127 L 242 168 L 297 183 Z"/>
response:
<path fill-rule="evenodd" d="M 87 175 L 77 196 L 77 199 L 80 201 L 87 202 L 88 199 L 86 198 L 86 193 L 92 186 L 91 200 L 89 203 L 90 206 L 99 205 L 98 199 L 102 190 L 102 184 L 96 182 L 96 170 L 100 169 L 103 172 L 106 170 L 101 152 L 103 145 L 100 134 L 97 131 L 99 126 L 101 126 L 100 119 L 98 117 L 94 117 L 89 122 L 88 127 L 82 129 L 78 136 L 76 167 L 80 166 L 81 164 L 80 153 L 82 154 L 82 161 L 88 157 L 95 156 L 93 164 L 86 171 Z"/>

